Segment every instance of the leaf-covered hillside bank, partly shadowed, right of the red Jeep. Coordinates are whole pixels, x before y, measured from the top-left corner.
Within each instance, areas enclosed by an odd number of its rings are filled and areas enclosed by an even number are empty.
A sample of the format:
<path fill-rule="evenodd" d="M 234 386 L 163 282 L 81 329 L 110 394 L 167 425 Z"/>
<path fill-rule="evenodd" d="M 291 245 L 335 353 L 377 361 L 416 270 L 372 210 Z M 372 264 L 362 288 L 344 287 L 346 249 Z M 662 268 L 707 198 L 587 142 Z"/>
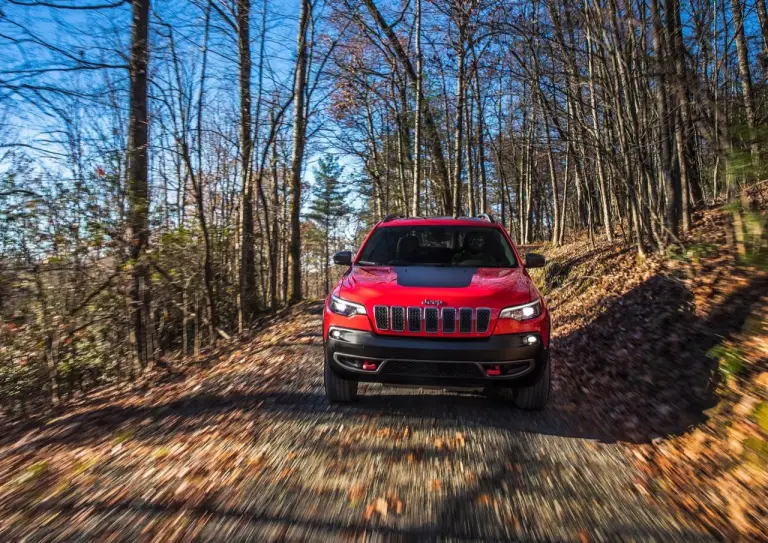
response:
<path fill-rule="evenodd" d="M 542 247 L 561 409 L 600 421 L 648 491 L 727 537 L 768 533 L 768 276 L 737 266 L 728 213 L 666 258 Z M 640 446 L 637 446 L 640 444 Z"/>

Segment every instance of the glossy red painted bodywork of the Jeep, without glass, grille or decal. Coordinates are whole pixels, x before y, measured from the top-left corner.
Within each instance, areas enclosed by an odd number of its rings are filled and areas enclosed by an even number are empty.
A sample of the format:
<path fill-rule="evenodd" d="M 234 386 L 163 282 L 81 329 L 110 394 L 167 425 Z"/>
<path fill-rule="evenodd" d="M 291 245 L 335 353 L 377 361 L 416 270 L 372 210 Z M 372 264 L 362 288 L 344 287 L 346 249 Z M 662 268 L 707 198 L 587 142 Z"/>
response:
<path fill-rule="evenodd" d="M 356 266 L 363 247 L 377 228 L 396 226 L 469 226 L 472 228 L 496 229 L 502 232 L 509 242 L 518 262 L 515 268 L 478 268 L 471 283 L 462 288 L 439 287 L 410 287 L 397 283 L 393 266 Z M 378 330 L 373 319 L 373 308 L 376 305 L 423 307 L 425 299 L 441 300 L 443 307 L 483 307 L 491 310 L 491 324 L 485 333 L 462 334 L 463 338 L 482 338 L 493 334 L 538 333 L 542 338 L 543 347 L 549 342 L 549 315 L 544 299 L 534 285 L 524 260 L 510 239 L 506 230 L 497 223 L 478 221 L 475 219 L 395 219 L 377 224 L 366 236 L 360 250 L 352 259 L 352 266 L 347 270 L 326 299 L 323 318 L 323 337 L 328 339 L 328 331 L 332 326 L 353 330 L 364 330 L 379 335 L 396 335 L 398 337 L 455 337 L 456 334 L 442 332 L 399 331 L 391 332 Z M 362 304 L 367 315 L 346 317 L 329 310 L 331 296 Z M 502 309 L 523 305 L 539 299 L 542 305 L 541 314 L 533 319 L 517 321 L 499 319 Z M 439 327 L 442 330 L 442 326 Z"/>

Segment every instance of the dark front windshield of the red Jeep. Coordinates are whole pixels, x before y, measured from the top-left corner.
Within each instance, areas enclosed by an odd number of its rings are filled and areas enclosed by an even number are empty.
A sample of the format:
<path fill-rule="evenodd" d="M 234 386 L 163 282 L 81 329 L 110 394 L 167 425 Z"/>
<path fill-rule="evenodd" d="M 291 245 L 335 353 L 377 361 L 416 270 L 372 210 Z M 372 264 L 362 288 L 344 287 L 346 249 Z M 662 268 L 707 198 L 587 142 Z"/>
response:
<path fill-rule="evenodd" d="M 514 268 L 517 261 L 496 228 L 389 226 L 373 232 L 357 264 Z"/>

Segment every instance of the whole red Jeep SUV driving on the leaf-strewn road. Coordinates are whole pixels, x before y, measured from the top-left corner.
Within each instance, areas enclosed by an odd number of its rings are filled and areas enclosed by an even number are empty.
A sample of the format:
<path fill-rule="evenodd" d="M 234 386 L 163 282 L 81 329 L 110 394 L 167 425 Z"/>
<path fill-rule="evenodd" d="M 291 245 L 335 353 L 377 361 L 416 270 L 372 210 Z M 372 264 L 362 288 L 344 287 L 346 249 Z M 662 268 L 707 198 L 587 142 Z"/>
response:
<path fill-rule="evenodd" d="M 387 216 L 328 295 L 325 392 L 363 382 L 483 388 L 541 409 L 550 391 L 549 313 L 506 230 L 479 218 Z"/>

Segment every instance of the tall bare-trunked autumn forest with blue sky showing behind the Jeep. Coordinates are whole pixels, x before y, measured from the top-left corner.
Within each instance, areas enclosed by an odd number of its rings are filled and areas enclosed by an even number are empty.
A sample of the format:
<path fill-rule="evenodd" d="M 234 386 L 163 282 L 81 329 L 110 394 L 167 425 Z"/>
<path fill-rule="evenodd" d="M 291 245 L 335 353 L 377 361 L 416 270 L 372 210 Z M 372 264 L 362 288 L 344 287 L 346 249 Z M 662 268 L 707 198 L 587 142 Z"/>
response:
<path fill-rule="evenodd" d="M 762 179 L 766 63 L 765 0 L 3 0 L 3 408 L 324 296 L 388 213 L 664 254 Z"/>

